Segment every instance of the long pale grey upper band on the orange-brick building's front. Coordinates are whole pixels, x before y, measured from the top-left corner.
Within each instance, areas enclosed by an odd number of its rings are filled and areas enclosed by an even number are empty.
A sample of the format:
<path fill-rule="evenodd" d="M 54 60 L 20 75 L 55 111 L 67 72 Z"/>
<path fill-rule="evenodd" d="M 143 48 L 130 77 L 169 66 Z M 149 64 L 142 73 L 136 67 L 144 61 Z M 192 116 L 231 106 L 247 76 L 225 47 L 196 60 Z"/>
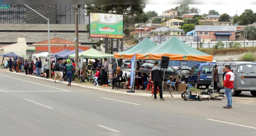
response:
<path fill-rule="evenodd" d="M 236 32 L 236 26 L 195 26 L 195 31 L 227 31 L 227 32 Z"/>

